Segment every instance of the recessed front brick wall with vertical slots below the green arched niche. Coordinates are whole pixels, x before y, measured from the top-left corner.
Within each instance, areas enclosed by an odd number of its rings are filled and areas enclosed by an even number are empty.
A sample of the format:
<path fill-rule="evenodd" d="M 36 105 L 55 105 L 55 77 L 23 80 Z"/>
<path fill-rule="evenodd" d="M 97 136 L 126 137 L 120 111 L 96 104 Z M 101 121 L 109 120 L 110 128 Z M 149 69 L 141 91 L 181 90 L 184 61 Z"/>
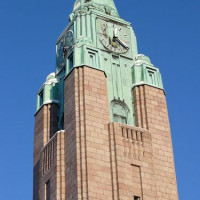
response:
<path fill-rule="evenodd" d="M 156 200 L 149 131 L 110 123 L 109 135 L 114 200 Z"/>

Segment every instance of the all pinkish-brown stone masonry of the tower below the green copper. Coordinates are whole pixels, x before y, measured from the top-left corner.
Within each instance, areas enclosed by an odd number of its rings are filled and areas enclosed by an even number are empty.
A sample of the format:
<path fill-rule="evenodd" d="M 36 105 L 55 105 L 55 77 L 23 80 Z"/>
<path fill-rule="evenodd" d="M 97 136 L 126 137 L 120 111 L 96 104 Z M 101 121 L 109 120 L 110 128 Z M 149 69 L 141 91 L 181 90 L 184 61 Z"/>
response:
<path fill-rule="evenodd" d="M 162 89 L 133 88 L 135 127 L 110 121 L 103 71 L 76 67 L 64 90 L 65 131 L 50 134 L 50 105 L 36 114 L 34 200 L 48 181 L 50 200 L 178 200 Z"/>

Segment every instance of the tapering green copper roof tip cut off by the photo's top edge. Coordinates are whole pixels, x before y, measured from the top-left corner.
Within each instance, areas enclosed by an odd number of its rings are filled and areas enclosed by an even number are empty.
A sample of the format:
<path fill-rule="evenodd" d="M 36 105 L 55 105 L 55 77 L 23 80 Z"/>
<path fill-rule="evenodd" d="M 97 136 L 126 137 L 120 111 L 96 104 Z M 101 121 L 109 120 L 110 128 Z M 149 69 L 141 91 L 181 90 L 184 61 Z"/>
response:
<path fill-rule="evenodd" d="M 73 13 L 84 9 L 95 9 L 109 15 L 119 16 L 113 0 L 76 0 Z"/>

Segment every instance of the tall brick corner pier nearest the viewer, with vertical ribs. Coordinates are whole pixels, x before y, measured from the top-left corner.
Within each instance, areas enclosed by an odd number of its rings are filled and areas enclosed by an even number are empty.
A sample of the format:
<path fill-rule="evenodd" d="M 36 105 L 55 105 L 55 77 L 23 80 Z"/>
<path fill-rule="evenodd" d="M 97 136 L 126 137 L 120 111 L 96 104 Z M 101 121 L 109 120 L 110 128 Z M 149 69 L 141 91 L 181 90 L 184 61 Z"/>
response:
<path fill-rule="evenodd" d="M 65 80 L 66 200 L 112 199 L 104 72 L 75 68 Z"/>

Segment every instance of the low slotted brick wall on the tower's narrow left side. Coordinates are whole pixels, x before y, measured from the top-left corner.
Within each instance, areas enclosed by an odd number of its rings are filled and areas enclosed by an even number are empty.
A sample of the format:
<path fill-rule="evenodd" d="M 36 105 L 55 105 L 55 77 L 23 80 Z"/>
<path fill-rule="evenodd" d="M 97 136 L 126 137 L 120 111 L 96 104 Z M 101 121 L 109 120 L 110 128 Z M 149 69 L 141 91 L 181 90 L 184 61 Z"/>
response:
<path fill-rule="evenodd" d="M 40 153 L 40 200 L 46 199 L 46 183 L 50 181 L 51 200 L 65 199 L 65 131 L 58 131 Z"/>

